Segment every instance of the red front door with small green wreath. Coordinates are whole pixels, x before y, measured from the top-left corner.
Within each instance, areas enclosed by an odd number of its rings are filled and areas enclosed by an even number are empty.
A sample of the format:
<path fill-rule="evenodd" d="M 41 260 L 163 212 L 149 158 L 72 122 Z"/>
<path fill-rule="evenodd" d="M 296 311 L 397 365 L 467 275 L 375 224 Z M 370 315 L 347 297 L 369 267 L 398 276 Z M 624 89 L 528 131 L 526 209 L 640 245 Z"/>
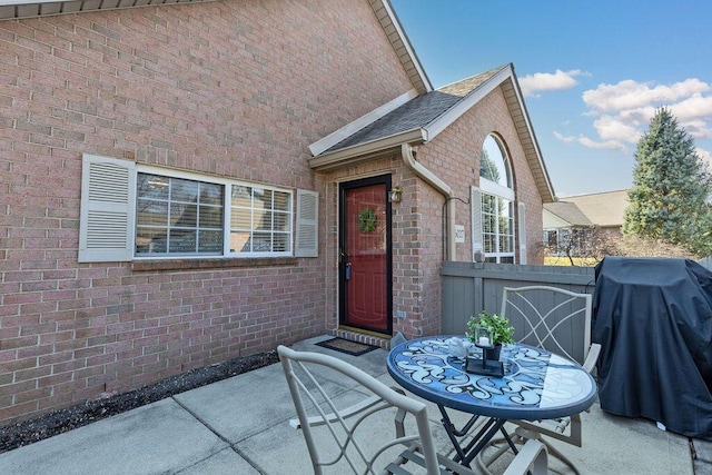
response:
<path fill-rule="evenodd" d="M 340 323 L 390 335 L 390 177 L 340 187 Z"/>

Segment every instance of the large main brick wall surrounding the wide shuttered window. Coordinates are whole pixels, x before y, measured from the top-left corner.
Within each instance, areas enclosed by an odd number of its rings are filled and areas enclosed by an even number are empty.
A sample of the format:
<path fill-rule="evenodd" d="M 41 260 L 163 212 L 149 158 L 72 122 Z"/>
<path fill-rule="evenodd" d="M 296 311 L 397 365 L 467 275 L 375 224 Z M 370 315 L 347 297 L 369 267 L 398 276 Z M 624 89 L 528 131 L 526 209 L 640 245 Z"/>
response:
<path fill-rule="evenodd" d="M 78 264 L 81 155 L 325 191 L 307 146 L 412 88 L 367 1 L 2 21 L 0 78 L 0 424 L 333 327 L 324 228 L 317 259 Z"/>

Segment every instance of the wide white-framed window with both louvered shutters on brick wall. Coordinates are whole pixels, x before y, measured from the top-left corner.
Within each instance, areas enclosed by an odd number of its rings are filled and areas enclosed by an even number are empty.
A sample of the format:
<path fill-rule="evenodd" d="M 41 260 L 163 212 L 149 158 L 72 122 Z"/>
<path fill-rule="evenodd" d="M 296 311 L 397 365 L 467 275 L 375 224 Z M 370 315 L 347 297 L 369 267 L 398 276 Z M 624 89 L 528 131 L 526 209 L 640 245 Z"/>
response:
<path fill-rule="evenodd" d="M 289 189 L 86 155 L 79 260 L 316 257 L 318 194 L 297 196 L 295 216 Z"/>

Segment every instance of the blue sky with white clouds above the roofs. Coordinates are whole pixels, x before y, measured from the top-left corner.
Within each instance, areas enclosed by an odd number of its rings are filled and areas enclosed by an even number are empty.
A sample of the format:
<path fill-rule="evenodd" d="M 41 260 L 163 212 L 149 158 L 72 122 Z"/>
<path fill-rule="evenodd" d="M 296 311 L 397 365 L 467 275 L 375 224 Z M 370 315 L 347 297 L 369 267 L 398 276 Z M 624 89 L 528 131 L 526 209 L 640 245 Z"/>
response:
<path fill-rule="evenodd" d="M 390 3 L 435 88 L 514 65 L 560 198 L 630 188 L 662 106 L 712 164 L 712 1 Z"/>

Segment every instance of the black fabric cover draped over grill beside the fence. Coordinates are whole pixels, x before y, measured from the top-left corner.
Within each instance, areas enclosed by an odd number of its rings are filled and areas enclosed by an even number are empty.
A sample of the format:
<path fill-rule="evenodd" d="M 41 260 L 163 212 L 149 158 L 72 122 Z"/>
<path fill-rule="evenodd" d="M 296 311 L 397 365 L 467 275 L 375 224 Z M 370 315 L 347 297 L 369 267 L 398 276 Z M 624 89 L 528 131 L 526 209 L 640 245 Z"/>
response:
<path fill-rule="evenodd" d="M 688 259 L 606 257 L 595 278 L 601 408 L 712 439 L 712 273 Z"/>

